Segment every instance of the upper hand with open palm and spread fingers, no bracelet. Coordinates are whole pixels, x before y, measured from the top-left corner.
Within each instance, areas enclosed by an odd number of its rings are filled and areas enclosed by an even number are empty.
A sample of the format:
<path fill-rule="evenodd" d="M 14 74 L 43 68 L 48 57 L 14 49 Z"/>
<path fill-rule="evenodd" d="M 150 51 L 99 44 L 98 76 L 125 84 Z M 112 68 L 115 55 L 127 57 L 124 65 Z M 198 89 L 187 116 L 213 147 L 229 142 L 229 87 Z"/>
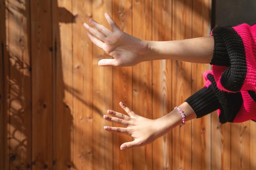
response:
<path fill-rule="evenodd" d="M 143 61 L 143 55 L 148 48 L 148 42 L 135 38 L 121 29 L 110 18 L 108 13 L 105 17 L 110 24 L 112 31 L 105 26 L 90 19 L 93 27 L 84 23 L 83 26 L 88 31 L 88 38 L 99 48 L 103 49 L 113 59 L 102 59 L 99 66 L 134 66 Z"/>

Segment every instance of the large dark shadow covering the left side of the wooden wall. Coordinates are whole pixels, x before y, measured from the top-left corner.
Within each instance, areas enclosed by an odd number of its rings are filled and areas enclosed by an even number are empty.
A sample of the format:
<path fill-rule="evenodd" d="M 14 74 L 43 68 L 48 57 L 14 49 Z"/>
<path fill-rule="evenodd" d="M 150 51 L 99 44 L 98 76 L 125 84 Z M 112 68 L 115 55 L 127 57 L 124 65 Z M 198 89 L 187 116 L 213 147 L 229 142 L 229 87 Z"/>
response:
<path fill-rule="evenodd" d="M 45 3 L 46 6 L 41 6 L 47 7 Z M 68 149 L 73 119 L 69 106 L 63 101 L 66 86 L 58 28 L 61 22 L 74 22 L 75 16 L 59 8 L 57 1 L 51 3 L 50 7 L 58 11 L 53 17 L 51 8 L 34 9 L 38 6 L 29 0 L 1 1 L 0 4 L 0 150 L 4 152 L 0 154 L 1 170 L 50 168 L 55 162 L 47 160 L 63 157 L 59 152 L 63 148 L 65 164 L 73 166 Z M 44 20 L 40 10 L 49 18 Z M 45 25 L 48 25 L 46 29 Z"/>

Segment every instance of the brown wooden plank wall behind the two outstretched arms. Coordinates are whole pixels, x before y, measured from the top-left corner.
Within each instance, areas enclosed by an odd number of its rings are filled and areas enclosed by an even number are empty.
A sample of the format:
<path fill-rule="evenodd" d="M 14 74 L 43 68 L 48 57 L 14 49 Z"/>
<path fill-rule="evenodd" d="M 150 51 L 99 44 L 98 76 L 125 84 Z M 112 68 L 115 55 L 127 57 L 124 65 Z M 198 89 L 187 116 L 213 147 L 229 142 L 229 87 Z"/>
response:
<path fill-rule="evenodd" d="M 146 40 L 210 33 L 211 0 L 1 0 L 0 170 L 255 170 L 256 124 L 195 119 L 141 148 L 103 130 L 108 109 L 158 118 L 202 88 L 209 64 L 162 60 L 97 66 L 108 57 L 83 22 Z M 109 26 L 108 26 L 109 28 Z"/>

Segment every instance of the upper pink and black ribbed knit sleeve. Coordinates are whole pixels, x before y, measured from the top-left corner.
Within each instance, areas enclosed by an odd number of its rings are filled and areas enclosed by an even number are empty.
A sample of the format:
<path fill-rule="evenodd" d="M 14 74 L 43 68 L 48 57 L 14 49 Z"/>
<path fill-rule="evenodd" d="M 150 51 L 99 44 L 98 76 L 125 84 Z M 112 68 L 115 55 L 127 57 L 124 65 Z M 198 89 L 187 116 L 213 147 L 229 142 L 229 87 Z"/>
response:
<path fill-rule="evenodd" d="M 211 64 L 218 88 L 256 91 L 256 25 L 216 27 L 212 34 L 216 44 Z"/>

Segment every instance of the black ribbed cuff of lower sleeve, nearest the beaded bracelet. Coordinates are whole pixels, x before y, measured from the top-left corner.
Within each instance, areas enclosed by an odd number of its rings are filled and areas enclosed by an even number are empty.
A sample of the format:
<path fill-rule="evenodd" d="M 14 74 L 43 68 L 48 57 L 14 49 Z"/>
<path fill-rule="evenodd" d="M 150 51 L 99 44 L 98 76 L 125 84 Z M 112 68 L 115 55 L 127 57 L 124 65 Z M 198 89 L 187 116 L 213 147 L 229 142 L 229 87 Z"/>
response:
<path fill-rule="evenodd" d="M 193 108 L 197 118 L 203 117 L 221 107 L 213 91 L 206 87 L 191 95 L 185 102 Z"/>

